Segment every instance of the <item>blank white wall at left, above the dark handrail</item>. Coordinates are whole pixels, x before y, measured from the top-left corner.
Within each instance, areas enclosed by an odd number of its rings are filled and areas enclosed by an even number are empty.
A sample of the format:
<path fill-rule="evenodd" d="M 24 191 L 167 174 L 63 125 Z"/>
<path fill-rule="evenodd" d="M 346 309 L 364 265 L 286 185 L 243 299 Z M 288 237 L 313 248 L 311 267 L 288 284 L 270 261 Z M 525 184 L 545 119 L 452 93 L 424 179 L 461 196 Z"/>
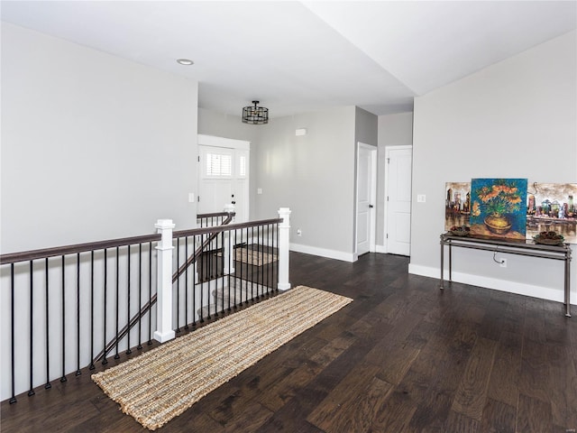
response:
<path fill-rule="evenodd" d="M 197 82 L 2 24 L 2 253 L 195 225 Z"/>

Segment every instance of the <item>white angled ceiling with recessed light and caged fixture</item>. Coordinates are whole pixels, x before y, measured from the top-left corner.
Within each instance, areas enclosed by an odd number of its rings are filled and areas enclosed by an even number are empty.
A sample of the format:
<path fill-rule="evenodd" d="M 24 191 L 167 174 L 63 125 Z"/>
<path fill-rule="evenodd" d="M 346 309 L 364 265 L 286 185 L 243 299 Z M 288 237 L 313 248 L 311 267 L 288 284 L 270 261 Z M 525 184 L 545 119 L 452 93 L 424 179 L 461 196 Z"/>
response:
<path fill-rule="evenodd" d="M 198 105 L 375 115 L 577 28 L 577 1 L 2 1 L 2 20 L 196 79 Z M 178 58 L 195 61 L 180 66 Z M 40 66 L 41 67 L 41 66 Z"/>

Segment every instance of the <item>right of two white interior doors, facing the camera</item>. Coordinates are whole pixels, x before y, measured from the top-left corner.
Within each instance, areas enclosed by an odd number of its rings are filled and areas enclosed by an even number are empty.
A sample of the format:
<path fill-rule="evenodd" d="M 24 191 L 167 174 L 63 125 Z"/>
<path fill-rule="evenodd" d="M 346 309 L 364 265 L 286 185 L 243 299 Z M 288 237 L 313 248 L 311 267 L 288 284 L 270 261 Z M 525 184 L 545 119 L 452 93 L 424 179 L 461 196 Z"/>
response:
<path fill-rule="evenodd" d="M 385 220 L 387 253 L 409 255 L 411 239 L 411 173 L 413 150 L 410 146 L 388 147 Z"/>

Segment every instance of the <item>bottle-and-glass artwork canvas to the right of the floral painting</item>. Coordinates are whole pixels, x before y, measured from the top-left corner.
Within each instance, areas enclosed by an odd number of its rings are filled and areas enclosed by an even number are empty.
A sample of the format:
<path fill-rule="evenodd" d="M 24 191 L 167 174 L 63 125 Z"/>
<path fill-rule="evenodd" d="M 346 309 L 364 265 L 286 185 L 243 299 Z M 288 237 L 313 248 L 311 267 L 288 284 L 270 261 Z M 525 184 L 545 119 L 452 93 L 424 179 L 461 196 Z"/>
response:
<path fill-rule="evenodd" d="M 533 183 L 527 191 L 527 239 L 541 232 L 577 244 L 577 183 Z"/>

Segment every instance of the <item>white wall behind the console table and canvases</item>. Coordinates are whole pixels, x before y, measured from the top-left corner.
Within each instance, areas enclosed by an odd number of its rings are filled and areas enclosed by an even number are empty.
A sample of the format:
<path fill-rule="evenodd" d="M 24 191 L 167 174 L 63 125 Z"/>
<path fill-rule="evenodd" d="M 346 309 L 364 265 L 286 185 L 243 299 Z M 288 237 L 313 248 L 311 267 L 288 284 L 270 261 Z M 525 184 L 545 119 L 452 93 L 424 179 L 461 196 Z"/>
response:
<path fill-rule="evenodd" d="M 439 277 L 446 181 L 577 180 L 576 52 L 573 31 L 416 98 L 409 272 Z M 460 249 L 453 266 L 457 281 L 563 299 L 561 262 L 509 256 L 500 268 L 492 253 Z"/>

